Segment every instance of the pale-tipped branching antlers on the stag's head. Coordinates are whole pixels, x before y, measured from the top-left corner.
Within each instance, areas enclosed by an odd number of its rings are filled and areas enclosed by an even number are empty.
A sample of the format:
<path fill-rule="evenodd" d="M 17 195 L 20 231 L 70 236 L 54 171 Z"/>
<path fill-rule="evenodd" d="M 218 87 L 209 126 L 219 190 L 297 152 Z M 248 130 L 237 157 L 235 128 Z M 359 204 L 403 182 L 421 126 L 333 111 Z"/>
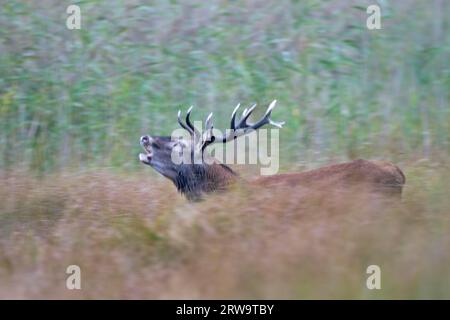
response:
<path fill-rule="evenodd" d="M 181 121 L 181 111 L 178 111 L 178 123 L 181 125 L 181 127 L 186 129 L 190 133 L 191 137 L 194 138 L 196 145 L 203 151 L 208 145 L 210 145 L 214 142 L 221 141 L 222 143 L 227 143 L 227 142 L 234 140 L 240 136 L 246 135 L 247 133 L 249 133 L 252 130 L 257 130 L 266 124 L 271 124 L 275 127 L 282 128 L 282 126 L 284 125 L 284 121 L 275 122 L 272 119 L 270 119 L 270 115 L 272 114 L 272 110 L 273 110 L 273 108 L 275 108 L 276 103 L 277 103 L 277 101 L 273 100 L 270 103 L 269 107 L 267 108 L 264 116 L 259 121 L 257 121 L 256 123 L 253 123 L 253 124 L 247 123 L 247 120 L 250 117 L 250 115 L 252 114 L 252 112 L 255 110 L 256 104 L 251 106 L 250 109 L 245 108 L 244 111 L 242 112 L 240 120 L 237 121 L 236 115 L 237 115 L 237 111 L 239 110 L 239 107 L 240 107 L 240 104 L 238 104 L 236 106 L 236 108 L 234 108 L 233 113 L 231 114 L 230 129 L 227 130 L 227 133 L 224 136 L 217 137 L 213 134 L 214 127 L 213 127 L 213 122 L 212 122 L 212 116 L 213 116 L 212 113 L 210 113 L 205 120 L 205 130 L 203 131 L 203 135 L 202 135 L 190 122 L 189 117 L 190 117 L 190 114 L 192 111 L 192 106 L 187 111 L 186 124 L 184 124 Z"/>

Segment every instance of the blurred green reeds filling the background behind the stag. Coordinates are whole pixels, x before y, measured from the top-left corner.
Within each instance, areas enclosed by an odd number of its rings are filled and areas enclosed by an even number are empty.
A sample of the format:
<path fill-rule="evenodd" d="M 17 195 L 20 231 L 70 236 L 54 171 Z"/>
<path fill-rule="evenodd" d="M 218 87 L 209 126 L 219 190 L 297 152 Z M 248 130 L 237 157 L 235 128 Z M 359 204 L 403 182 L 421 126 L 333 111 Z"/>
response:
<path fill-rule="evenodd" d="M 132 170 L 178 109 L 226 128 L 238 102 L 272 99 L 282 165 L 450 153 L 450 1 L 0 3 L 2 170 Z"/>

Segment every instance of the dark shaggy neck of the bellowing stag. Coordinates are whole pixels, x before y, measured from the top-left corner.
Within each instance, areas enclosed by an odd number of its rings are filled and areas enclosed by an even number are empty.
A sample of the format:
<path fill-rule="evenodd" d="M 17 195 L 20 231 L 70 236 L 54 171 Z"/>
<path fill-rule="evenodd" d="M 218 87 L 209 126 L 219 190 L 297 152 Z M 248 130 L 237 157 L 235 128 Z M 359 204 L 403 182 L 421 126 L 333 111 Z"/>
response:
<path fill-rule="evenodd" d="M 197 200 L 202 193 L 225 190 L 235 181 L 237 174 L 221 163 L 185 165 L 174 181 L 178 191 L 190 200 Z"/>

